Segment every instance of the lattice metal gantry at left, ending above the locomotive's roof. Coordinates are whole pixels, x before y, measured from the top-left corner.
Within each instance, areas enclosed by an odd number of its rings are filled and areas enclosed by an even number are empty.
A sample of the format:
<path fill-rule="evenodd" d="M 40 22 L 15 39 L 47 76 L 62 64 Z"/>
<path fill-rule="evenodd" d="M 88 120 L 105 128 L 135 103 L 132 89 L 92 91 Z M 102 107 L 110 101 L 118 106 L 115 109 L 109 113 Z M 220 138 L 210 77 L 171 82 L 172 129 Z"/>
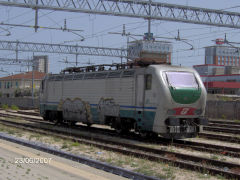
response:
<path fill-rule="evenodd" d="M 126 49 L 2 40 L 0 40 L 0 50 L 10 50 L 16 52 L 23 51 L 74 55 L 110 56 L 122 58 L 127 57 Z"/>

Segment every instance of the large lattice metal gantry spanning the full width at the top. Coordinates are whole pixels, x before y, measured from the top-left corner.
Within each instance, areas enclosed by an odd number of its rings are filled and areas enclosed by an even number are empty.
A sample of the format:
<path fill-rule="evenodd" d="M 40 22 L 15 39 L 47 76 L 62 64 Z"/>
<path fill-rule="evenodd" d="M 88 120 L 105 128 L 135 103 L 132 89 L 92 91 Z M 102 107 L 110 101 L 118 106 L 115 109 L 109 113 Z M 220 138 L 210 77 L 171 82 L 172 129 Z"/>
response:
<path fill-rule="evenodd" d="M 0 0 L 0 5 L 240 28 L 240 13 L 142 0 Z"/>

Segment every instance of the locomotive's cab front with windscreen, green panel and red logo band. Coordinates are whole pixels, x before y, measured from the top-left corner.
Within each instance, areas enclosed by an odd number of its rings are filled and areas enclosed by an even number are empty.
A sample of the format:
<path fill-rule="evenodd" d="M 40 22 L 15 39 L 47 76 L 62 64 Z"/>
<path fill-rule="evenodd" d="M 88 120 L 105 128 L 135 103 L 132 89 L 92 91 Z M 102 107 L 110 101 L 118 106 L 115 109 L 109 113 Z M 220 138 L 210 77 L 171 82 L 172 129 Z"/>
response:
<path fill-rule="evenodd" d="M 196 137 L 207 125 L 204 117 L 206 92 L 200 78 L 193 72 L 165 72 L 171 96 L 171 108 L 167 109 L 164 137 L 181 139 Z"/>

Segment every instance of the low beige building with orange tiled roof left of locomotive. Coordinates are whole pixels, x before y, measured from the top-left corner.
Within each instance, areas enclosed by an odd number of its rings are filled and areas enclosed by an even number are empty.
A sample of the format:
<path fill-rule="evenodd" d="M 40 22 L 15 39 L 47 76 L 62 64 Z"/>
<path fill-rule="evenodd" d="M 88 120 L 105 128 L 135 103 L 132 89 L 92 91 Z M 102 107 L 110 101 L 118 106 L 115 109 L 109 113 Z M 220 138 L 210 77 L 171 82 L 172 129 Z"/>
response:
<path fill-rule="evenodd" d="M 1 97 L 31 96 L 32 86 L 34 92 L 39 92 L 40 84 L 46 74 L 38 71 L 15 74 L 0 78 Z M 34 77 L 34 78 L 33 78 Z M 32 80 L 34 83 L 32 84 Z"/>

